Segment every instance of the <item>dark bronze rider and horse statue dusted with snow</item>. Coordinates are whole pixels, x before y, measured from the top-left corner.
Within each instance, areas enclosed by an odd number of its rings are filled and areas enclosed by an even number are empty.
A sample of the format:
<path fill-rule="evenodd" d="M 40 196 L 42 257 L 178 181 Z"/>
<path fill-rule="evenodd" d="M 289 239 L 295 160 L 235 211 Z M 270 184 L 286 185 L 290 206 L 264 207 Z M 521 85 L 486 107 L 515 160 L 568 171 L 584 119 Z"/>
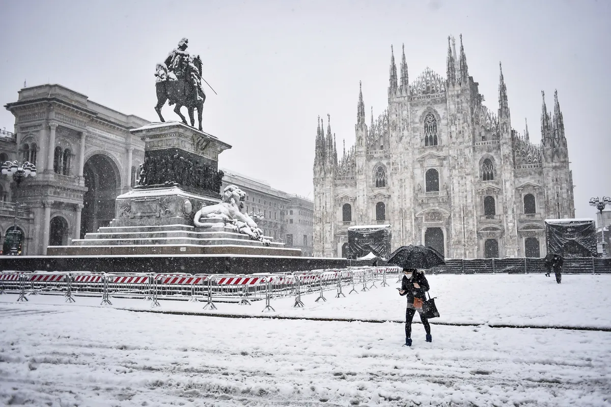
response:
<path fill-rule="evenodd" d="M 194 111 L 197 110 L 199 129 L 202 130 L 202 109 L 206 101 L 202 82 L 206 81 L 202 78 L 202 59 L 199 55 L 192 56 L 186 51 L 188 43 L 187 38 L 180 40 L 178 48 L 172 50 L 166 60 L 156 66 L 157 105 L 155 111 L 159 115 L 159 120 L 166 121 L 161 115 L 161 108 L 166 101 L 169 101 L 170 106 L 176 105 L 174 112 L 183 123 L 188 124 L 185 116 L 180 112 L 181 107 L 186 106 L 191 126 L 195 126 Z"/>

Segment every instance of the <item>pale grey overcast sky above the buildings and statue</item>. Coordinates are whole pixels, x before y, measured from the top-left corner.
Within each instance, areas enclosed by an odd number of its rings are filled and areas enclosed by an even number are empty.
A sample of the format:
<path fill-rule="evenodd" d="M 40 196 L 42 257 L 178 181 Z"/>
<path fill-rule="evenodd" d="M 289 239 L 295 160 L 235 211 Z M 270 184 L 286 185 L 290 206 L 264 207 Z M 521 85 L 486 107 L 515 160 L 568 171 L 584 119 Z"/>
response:
<path fill-rule="evenodd" d="M 359 81 L 365 110 L 387 107 L 390 45 L 409 78 L 445 77 L 447 37 L 463 34 L 469 73 L 498 109 L 499 61 L 512 127 L 540 140 L 541 90 L 562 108 L 576 217 L 611 195 L 609 1 L 5 1 L 0 102 L 58 83 L 157 121 L 155 63 L 182 37 L 203 60 L 204 131 L 230 143 L 219 165 L 312 198 L 316 118 L 331 114 L 338 149 L 354 143 Z M 166 105 L 166 120 L 174 112 Z M 367 118 L 367 123 L 369 118 Z M 0 128 L 12 131 L 2 109 Z M 325 124 L 326 125 L 326 124 Z"/>

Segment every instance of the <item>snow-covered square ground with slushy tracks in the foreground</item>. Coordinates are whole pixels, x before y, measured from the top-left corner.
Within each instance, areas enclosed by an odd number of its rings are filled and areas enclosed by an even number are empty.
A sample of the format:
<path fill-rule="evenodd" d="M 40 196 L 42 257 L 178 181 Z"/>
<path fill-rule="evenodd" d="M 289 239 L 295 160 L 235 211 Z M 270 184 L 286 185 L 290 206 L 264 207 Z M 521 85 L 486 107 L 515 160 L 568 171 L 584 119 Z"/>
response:
<path fill-rule="evenodd" d="M 604 406 L 611 395 L 611 276 L 432 275 L 433 343 L 415 324 L 130 312 L 150 301 L 0 295 L 0 402 L 31 406 Z M 401 320 L 390 287 L 277 312 L 217 303 L 214 314 Z M 357 286 L 360 289 L 362 286 Z M 162 311 L 203 303 L 161 301 Z M 415 320 L 418 320 L 415 317 Z M 573 326 L 598 331 L 491 328 Z"/>

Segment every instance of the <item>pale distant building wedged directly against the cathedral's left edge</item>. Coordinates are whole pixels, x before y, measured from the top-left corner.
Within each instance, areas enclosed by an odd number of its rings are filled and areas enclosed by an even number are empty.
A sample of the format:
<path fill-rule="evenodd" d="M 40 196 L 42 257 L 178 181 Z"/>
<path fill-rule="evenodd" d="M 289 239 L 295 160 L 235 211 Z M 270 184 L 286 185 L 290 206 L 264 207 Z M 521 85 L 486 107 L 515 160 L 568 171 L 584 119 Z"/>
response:
<path fill-rule="evenodd" d="M 287 195 L 290 203 L 287 206 L 287 247 L 301 249 L 304 256 L 312 256 L 314 203 L 299 195 Z"/>

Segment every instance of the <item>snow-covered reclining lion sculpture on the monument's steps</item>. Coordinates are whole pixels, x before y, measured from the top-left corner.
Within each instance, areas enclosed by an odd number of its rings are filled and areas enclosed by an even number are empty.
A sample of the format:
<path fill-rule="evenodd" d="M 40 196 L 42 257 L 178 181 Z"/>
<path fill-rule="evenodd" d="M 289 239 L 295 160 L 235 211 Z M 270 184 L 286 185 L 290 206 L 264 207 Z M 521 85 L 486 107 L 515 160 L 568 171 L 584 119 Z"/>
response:
<path fill-rule="evenodd" d="M 227 185 L 223 190 L 221 203 L 203 206 L 196 212 L 193 223 L 200 228 L 215 228 L 221 220 L 221 225 L 269 246 L 269 240 L 263 237 L 263 231 L 258 228 L 257 223 L 249 215 L 241 212 L 244 208 L 244 198 L 246 193 L 243 190 L 235 185 Z"/>

